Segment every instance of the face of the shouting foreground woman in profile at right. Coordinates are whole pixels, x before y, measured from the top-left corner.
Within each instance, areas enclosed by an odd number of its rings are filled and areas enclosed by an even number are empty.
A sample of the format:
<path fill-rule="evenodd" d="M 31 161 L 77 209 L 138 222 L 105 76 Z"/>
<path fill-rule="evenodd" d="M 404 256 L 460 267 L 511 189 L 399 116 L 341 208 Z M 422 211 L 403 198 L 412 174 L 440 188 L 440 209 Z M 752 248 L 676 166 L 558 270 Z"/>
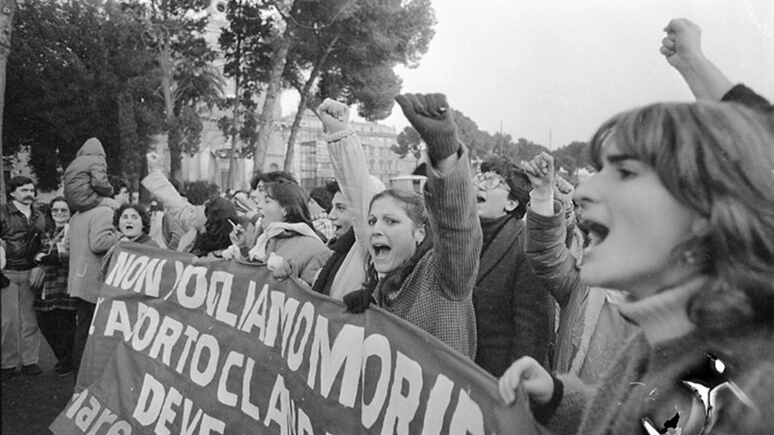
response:
<path fill-rule="evenodd" d="M 700 217 L 664 187 L 639 160 L 607 145 L 598 174 L 578 186 L 575 200 L 589 230 L 581 280 L 628 291 L 641 299 L 692 272 L 675 261 L 675 248 L 698 230 Z"/>

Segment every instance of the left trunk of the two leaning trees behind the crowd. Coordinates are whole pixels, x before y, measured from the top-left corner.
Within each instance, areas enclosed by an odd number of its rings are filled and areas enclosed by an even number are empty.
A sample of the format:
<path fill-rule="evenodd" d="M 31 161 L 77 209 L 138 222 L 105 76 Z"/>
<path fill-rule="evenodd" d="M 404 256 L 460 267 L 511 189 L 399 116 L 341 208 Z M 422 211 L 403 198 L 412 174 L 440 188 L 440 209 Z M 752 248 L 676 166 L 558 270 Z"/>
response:
<path fill-rule="evenodd" d="M 285 64 L 288 61 L 288 52 L 293 38 L 292 20 L 288 20 L 282 37 L 277 41 L 272 56 L 271 70 L 269 71 L 269 83 L 266 87 L 266 97 L 263 101 L 263 109 L 258 120 L 258 136 L 255 142 L 255 153 L 253 155 L 254 171 L 263 171 L 266 162 L 266 152 L 269 149 L 269 139 L 274 127 L 274 104 L 282 91 L 282 73 L 285 71 Z"/>

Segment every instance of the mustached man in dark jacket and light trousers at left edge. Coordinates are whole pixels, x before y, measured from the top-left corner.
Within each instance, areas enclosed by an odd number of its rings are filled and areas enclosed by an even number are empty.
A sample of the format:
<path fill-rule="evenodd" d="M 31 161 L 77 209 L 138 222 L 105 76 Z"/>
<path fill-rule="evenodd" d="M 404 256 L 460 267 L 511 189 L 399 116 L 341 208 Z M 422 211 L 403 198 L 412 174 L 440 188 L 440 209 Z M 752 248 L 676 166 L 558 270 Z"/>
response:
<path fill-rule="evenodd" d="M 35 320 L 30 271 L 46 228 L 44 214 L 35 208 L 35 184 L 27 177 L 11 178 L 8 202 L 0 206 L 0 239 L 5 242 L 3 274 L 10 283 L 2 289 L 2 379 L 14 375 L 21 364 L 27 375 L 43 372 L 38 365 L 40 333 Z"/>

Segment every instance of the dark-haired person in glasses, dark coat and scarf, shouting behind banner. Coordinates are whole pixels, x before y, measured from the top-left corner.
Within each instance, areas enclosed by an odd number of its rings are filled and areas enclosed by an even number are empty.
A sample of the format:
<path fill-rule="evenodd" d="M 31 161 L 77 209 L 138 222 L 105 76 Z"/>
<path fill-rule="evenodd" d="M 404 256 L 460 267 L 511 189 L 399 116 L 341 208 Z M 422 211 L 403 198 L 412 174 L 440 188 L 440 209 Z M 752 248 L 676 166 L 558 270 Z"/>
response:
<path fill-rule="evenodd" d="M 548 367 L 554 338 L 554 303 L 524 255 L 524 213 L 531 184 L 505 157 L 481 165 L 475 177 L 484 234 L 473 304 L 478 349 L 476 364 L 494 376 L 531 356 Z"/>

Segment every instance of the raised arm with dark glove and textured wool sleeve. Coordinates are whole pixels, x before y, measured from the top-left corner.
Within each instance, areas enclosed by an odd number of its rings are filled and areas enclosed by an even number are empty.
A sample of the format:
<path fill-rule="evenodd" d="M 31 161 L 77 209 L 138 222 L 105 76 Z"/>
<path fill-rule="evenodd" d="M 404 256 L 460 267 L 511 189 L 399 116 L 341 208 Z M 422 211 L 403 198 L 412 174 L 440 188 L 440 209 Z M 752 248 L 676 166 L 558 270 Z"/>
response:
<path fill-rule="evenodd" d="M 483 238 L 465 146 L 445 95 L 406 94 L 395 100 L 427 144 L 425 203 L 433 229 L 435 280 L 446 298 L 464 299 L 473 291 Z"/>

